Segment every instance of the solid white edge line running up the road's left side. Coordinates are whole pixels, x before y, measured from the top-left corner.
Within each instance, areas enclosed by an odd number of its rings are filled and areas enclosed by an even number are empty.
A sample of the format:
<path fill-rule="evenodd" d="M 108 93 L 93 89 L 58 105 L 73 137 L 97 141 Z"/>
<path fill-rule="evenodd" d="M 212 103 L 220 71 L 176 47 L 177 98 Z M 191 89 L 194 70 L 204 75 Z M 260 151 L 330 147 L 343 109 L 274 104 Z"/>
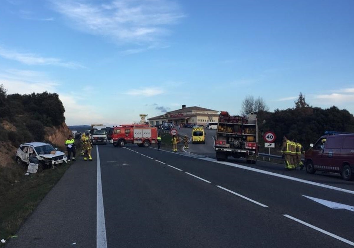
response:
<path fill-rule="evenodd" d="M 104 206 L 102 194 L 102 180 L 101 180 L 101 162 L 99 160 L 98 146 L 97 152 L 97 228 L 96 228 L 96 247 L 107 248 L 106 224 L 104 221 Z"/>

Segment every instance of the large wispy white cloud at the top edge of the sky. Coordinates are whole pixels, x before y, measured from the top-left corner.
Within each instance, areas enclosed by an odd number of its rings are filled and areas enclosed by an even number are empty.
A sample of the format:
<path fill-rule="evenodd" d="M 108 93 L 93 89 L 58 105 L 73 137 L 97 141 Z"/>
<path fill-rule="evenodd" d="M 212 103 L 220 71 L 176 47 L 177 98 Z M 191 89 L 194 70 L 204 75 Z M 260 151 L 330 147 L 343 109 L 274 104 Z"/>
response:
<path fill-rule="evenodd" d="M 163 26 L 183 17 L 178 6 L 166 0 L 106 1 L 94 5 L 83 1 L 52 0 L 55 11 L 82 32 L 108 36 L 119 43 L 152 44 L 169 32 Z"/>

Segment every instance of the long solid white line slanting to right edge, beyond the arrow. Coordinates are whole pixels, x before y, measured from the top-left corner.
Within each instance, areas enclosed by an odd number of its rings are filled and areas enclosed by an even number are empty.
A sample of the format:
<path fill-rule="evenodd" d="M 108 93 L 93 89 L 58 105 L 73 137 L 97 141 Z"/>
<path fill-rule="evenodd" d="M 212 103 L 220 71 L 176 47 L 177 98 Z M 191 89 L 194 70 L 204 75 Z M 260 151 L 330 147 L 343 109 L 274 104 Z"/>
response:
<path fill-rule="evenodd" d="M 274 172 L 260 170 L 260 169 L 256 169 L 256 168 L 252 168 L 252 167 L 247 167 L 247 166 L 240 165 L 240 164 L 233 164 L 233 163 L 230 163 L 230 162 L 216 161 L 216 159 L 212 159 L 212 158 L 199 158 L 199 159 L 206 160 L 206 161 L 212 161 L 212 162 L 219 163 L 219 164 L 225 164 L 225 165 L 229 165 L 229 166 L 240 168 L 240 169 L 244 169 L 244 170 L 251 170 L 251 171 L 255 171 L 255 172 L 266 174 L 266 175 L 270 175 L 270 176 L 281 177 L 281 178 L 289 179 L 289 180 L 292 180 L 292 181 L 302 182 L 304 184 L 310 184 L 310 185 L 314 185 L 314 186 L 318 186 L 318 187 L 322 187 L 322 188 L 327 188 L 327 189 L 330 189 L 330 190 L 341 191 L 341 192 L 345 192 L 345 193 L 349 193 L 349 194 L 353 194 L 354 195 L 354 191 L 346 190 L 344 188 L 333 187 L 333 186 L 329 186 L 329 185 L 325 185 L 325 184 L 320 184 L 318 182 L 307 181 L 307 180 L 304 180 L 304 179 L 299 179 L 299 178 L 292 177 L 292 176 L 281 175 L 281 174 L 277 174 L 277 173 L 274 173 Z"/>

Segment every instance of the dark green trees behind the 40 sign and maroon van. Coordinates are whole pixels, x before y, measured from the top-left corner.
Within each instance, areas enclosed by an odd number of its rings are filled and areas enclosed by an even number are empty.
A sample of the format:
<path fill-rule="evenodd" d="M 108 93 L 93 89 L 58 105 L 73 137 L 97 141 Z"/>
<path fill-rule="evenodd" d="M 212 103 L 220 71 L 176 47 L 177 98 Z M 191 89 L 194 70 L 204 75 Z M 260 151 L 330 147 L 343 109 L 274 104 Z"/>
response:
<path fill-rule="evenodd" d="M 300 93 L 294 108 L 276 109 L 273 112 L 259 111 L 257 113 L 259 133 L 273 131 L 276 134 L 277 148 L 282 143 L 284 134 L 289 139 L 297 139 L 304 148 L 316 142 L 325 131 L 354 133 L 354 117 L 346 109 L 332 106 L 328 109 L 309 106 Z M 260 138 L 263 143 L 263 138 Z"/>

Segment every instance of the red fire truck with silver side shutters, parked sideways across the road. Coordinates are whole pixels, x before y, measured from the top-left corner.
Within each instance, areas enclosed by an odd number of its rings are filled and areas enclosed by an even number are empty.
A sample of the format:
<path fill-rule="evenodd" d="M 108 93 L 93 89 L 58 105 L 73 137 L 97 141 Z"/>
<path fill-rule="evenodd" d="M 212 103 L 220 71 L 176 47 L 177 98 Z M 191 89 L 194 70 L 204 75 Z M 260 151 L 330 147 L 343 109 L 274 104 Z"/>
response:
<path fill-rule="evenodd" d="M 114 126 L 111 138 L 114 147 L 125 144 L 137 144 L 139 147 L 149 147 L 157 143 L 157 128 L 145 124 Z M 111 133 L 111 132 L 110 132 Z"/>

